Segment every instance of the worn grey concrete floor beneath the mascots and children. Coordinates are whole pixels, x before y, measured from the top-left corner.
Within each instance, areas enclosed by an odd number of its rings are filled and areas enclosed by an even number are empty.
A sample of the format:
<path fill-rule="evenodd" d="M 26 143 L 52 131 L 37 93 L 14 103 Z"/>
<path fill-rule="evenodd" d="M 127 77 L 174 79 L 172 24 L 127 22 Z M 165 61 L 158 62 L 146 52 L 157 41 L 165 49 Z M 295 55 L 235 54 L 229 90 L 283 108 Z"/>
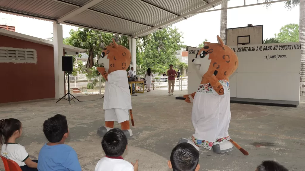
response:
<path fill-rule="evenodd" d="M 175 96 L 186 91 L 175 91 Z M 18 118 L 23 123 L 23 145 L 31 159 L 38 157 L 46 142 L 42 132 L 45 119 L 57 113 L 66 115 L 70 138 L 67 142 L 77 154 L 83 170 L 94 170 L 104 156 L 101 138 L 96 130 L 104 124 L 101 95 L 82 96 L 72 102 L 56 100 L 2 104 L 1 118 Z M 139 159 L 139 171 L 169 171 L 167 160 L 179 138 L 193 133 L 192 104 L 168 96 L 166 90 L 152 90 L 132 96 L 135 127 L 123 157 L 127 161 Z M 276 160 L 290 171 L 303 170 L 305 163 L 305 99 L 298 108 L 231 104 L 231 138 L 249 152 L 243 155 L 235 149 L 224 154 L 200 149 L 199 164 L 203 171 L 254 171 L 263 160 Z M 119 127 L 118 124 L 115 126 Z M 0 162 L 0 170 L 4 170 Z"/>

